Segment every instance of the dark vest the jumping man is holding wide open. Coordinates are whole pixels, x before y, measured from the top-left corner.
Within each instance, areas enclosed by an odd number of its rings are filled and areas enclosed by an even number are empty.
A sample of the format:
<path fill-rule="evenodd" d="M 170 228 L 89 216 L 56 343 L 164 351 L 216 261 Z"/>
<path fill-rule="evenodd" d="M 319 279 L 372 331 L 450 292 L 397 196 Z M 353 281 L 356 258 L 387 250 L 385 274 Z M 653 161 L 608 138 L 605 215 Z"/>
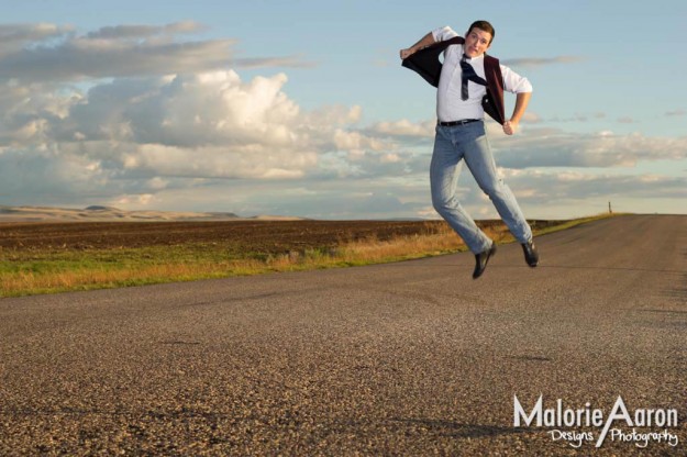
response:
<path fill-rule="evenodd" d="M 465 40 L 456 36 L 444 42 L 423 47 L 410 57 L 403 59 L 402 66 L 418 73 L 424 80 L 439 87 L 442 63 L 439 55 L 452 44 L 463 44 Z M 487 79 L 487 94 L 481 99 L 481 107 L 496 122 L 503 125 L 506 122 L 503 109 L 503 76 L 499 59 L 485 54 L 485 74 Z"/>

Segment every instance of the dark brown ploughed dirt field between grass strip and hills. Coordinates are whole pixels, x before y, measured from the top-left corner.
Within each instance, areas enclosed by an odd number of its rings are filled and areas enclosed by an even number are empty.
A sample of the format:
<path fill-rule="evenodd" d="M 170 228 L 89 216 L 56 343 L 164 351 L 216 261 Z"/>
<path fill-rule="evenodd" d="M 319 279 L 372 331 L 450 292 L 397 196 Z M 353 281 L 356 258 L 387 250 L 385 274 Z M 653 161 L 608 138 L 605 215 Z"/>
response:
<path fill-rule="evenodd" d="M 501 224 L 485 221 L 480 225 Z M 542 227 L 551 222 L 535 221 Z M 109 249 L 232 244 L 253 252 L 330 247 L 342 242 L 447 230 L 441 221 L 224 221 L 0 223 L 0 249 Z"/>

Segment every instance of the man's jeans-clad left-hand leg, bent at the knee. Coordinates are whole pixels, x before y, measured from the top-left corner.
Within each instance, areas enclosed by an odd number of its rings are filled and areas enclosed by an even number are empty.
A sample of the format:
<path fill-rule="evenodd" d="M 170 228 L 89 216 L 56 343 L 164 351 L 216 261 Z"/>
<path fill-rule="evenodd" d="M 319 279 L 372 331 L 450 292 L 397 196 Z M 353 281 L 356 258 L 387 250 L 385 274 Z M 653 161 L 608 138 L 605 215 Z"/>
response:
<path fill-rule="evenodd" d="M 430 166 L 432 204 L 467 247 L 479 254 L 491 247 L 491 241 L 475 224 L 456 197 L 463 151 L 452 140 L 452 127 L 436 127 Z"/>

